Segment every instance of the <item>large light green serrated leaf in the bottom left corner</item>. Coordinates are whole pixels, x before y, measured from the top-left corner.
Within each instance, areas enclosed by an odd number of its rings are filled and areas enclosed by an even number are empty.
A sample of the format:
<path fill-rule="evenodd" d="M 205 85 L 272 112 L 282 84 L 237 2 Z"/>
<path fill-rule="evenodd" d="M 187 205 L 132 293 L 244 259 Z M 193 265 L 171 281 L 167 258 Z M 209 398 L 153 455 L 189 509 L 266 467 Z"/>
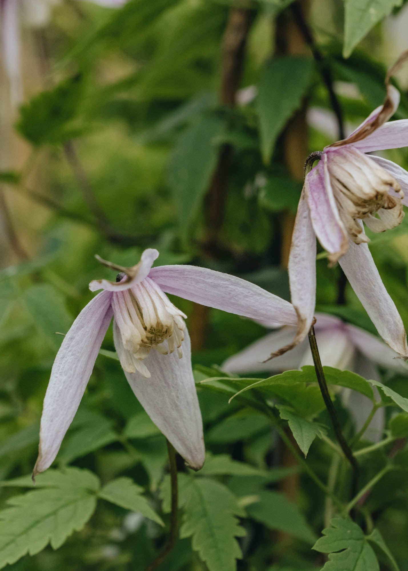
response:
<path fill-rule="evenodd" d="M 96 496 L 85 488 L 31 490 L 7 501 L 0 512 L 0 568 L 50 543 L 58 549 L 93 514 Z"/>

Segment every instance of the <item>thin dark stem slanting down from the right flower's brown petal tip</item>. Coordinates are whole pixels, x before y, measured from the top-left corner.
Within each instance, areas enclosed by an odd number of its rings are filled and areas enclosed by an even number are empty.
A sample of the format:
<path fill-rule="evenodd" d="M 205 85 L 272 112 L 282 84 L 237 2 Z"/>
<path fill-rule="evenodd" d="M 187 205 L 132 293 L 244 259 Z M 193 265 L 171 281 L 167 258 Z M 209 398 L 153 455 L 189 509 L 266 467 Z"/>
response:
<path fill-rule="evenodd" d="M 351 468 L 353 469 L 351 493 L 353 496 L 355 496 L 355 494 L 357 493 L 357 485 L 358 485 L 358 472 L 359 472 L 358 462 L 353 456 L 353 452 L 351 452 L 351 448 L 349 447 L 345 437 L 343 436 L 343 433 L 341 431 L 341 425 L 337 417 L 337 413 L 330 398 L 329 389 L 327 388 L 327 383 L 325 379 L 325 373 L 323 372 L 322 362 L 320 360 L 319 349 L 317 347 L 317 340 L 314 333 L 313 325 L 311 326 L 309 331 L 309 344 L 310 344 L 311 356 L 313 357 L 313 363 L 314 363 L 314 369 L 316 371 L 317 381 L 319 383 L 323 400 L 325 401 L 327 412 L 330 415 L 335 435 L 337 437 L 338 443 L 341 446 L 344 455 L 346 456 L 347 460 L 350 462 Z"/>

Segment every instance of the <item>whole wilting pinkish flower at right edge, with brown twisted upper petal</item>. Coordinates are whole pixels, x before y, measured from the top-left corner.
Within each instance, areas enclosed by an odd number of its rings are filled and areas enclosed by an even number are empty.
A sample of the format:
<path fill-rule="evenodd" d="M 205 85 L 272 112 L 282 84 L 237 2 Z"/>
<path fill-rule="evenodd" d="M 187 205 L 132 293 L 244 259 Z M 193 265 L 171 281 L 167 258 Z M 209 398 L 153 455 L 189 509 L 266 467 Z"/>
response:
<path fill-rule="evenodd" d="M 316 238 L 339 262 L 377 331 L 399 356 L 408 358 L 406 333 L 367 246 L 362 222 L 374 232 L 397 226 L 408 206 L 408 172 L 367 152 L 408 146 L 408 120 L 386 122 L 398 107 L 390 77 L 408 58 L 402 55 L 386 78 L 384 103 L 344 140 L 326 147 L 306 175 L 289 257 L 291 300 L 298 313 L 294 340 L 271 357 L 295 347 L 310 329 L 315 308 Z M 377 218 L 378 217 L 378 218 Z"/>

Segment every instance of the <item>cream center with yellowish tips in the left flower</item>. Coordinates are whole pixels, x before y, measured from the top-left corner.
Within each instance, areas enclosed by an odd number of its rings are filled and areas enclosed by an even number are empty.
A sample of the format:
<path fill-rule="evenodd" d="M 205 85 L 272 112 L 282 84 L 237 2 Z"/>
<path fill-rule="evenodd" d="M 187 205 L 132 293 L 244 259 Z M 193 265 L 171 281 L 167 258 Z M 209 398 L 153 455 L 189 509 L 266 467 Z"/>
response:
<path fill-rule="evenodd" d="M 125 291 L 114 292 L 112 307 L 115 347 L 124 371 L 150 377 L 142 361 L 151 349 L 162 355 L 177 349 L 181 359 L 186 316 L 153 280 L 145 278 Z"/>

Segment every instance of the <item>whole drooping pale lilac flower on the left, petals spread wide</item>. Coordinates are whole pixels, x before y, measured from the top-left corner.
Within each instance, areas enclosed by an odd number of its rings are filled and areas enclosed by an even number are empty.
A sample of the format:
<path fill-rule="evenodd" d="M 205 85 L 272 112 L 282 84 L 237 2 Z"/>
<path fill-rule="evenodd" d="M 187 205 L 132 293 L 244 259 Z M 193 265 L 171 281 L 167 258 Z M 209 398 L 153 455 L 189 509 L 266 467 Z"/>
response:
<path fill-rule="evenodd" d="M 191 468 L 205 457 L 201 413 L 190 358 L 185 315 L 166 294 L 237 313 L 295 325 L 293 306 L 235 276 L 194 266 L 152 268 L 157 250 L 148 249 L 134 267 L 99 260 L 118 272 L 117 283 L 91 282 L 103 289 L 82 309 L 55 357 L 41 417 L 34 475 L 57 456 L 114 317 L 115 348 L 127 381 L 151 420 Z"/>

